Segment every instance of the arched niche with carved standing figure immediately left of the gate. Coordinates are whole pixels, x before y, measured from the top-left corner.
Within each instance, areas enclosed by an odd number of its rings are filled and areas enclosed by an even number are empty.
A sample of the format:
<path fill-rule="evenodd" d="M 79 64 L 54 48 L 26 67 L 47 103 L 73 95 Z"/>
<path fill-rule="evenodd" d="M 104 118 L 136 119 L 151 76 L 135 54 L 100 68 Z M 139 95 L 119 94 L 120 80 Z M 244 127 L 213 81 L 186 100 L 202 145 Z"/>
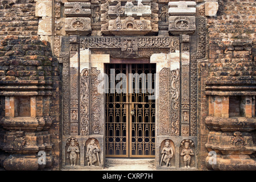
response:
<path fill-rule="evenodd" d="M 100 166 L 101 159 L 100 159 L 100 143 L 96 138 L 89 138 L 85 142 L 85 166 L 94 167 Z"/>

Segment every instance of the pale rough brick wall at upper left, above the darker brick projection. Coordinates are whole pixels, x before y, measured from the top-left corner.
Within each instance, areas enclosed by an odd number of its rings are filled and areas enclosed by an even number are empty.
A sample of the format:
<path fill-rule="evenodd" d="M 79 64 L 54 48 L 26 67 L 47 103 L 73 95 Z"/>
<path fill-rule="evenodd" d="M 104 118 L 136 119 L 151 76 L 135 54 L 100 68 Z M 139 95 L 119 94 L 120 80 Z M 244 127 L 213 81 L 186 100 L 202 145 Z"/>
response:
<path fill-rule="evenodd" d="M 0 1 L 0 40 L 6 35 L 35 36 L 38 18 L 34 0 Z"/>

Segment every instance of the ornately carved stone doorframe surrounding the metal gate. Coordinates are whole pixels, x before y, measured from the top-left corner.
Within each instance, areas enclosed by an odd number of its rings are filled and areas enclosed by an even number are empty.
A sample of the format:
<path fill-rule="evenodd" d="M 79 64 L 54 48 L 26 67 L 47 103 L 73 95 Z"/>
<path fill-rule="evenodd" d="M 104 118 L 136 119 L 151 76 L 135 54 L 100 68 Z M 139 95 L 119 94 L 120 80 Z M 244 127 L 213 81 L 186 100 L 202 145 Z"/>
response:
<path fill-rule="evenodd" d="M 181 142 L 189 139 L 192 140 L 193 147 L 197 147 L 196 125 L 193 124 L 196 121 L 191 120 L 191 106 L 196 107 L 196 100 L 193 101 L 195 103 L 191 100 L 192 94 L 196 94 L 191 93 L 191 89 L 196 88 L 196 82 L 191 79 L 195 78 L 196 70 L 195 62 L 192 63 L 190 58 L 193 56 L 189 50 L 190 39 L 191 36 L 184 34 L 132 38 L 76 35 L 63 38 L 63 166 L 68 166 L 67 147 L 64 143 L 75 137 L 80 146 L 79 167 L 89 167 L 86 142 L 92 139 L 97 140 L 100 148 L 100 164 L 96 167 L 104 167 L 105 94 L 98 93 L 104 77 L 104 64 L 111 63 L 111 57 L 120 60 L 147 57 L 150 63 L 156 64 L 158 88 L 155 166 L 157 169 L 170 169 L 159 166 L 162 143 L 170 140 L 175 147 L 171 166 L 173 169 L 182 168 L 179 155 Z M 197 166 L 195 159 L 193 157 L 194 168 Z"/>

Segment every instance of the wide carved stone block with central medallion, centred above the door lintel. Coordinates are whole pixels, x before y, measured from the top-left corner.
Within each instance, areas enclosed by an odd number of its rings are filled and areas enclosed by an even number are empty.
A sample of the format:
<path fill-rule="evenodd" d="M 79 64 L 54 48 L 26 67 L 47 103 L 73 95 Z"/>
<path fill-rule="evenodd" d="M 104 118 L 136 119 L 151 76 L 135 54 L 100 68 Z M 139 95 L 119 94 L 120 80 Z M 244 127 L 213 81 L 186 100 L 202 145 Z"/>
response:
<path fill-rule="evenodd" d="M 158 32 L 158 3 L 101 1 L 101 32 L 105 35 L 146 35 Z"/>

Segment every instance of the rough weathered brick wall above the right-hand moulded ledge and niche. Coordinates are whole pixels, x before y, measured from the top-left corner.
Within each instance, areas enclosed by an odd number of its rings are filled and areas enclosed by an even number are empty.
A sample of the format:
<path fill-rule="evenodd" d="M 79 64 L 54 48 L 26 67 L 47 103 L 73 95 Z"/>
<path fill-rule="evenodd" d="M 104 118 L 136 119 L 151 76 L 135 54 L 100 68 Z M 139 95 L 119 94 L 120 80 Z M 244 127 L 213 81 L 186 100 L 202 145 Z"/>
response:
<path fill-rule="evenodd" d="M 221 0 L 217 16 L 208 18 L 209 81 L 255 80 L 255 6 L 253 0 Z"/>

